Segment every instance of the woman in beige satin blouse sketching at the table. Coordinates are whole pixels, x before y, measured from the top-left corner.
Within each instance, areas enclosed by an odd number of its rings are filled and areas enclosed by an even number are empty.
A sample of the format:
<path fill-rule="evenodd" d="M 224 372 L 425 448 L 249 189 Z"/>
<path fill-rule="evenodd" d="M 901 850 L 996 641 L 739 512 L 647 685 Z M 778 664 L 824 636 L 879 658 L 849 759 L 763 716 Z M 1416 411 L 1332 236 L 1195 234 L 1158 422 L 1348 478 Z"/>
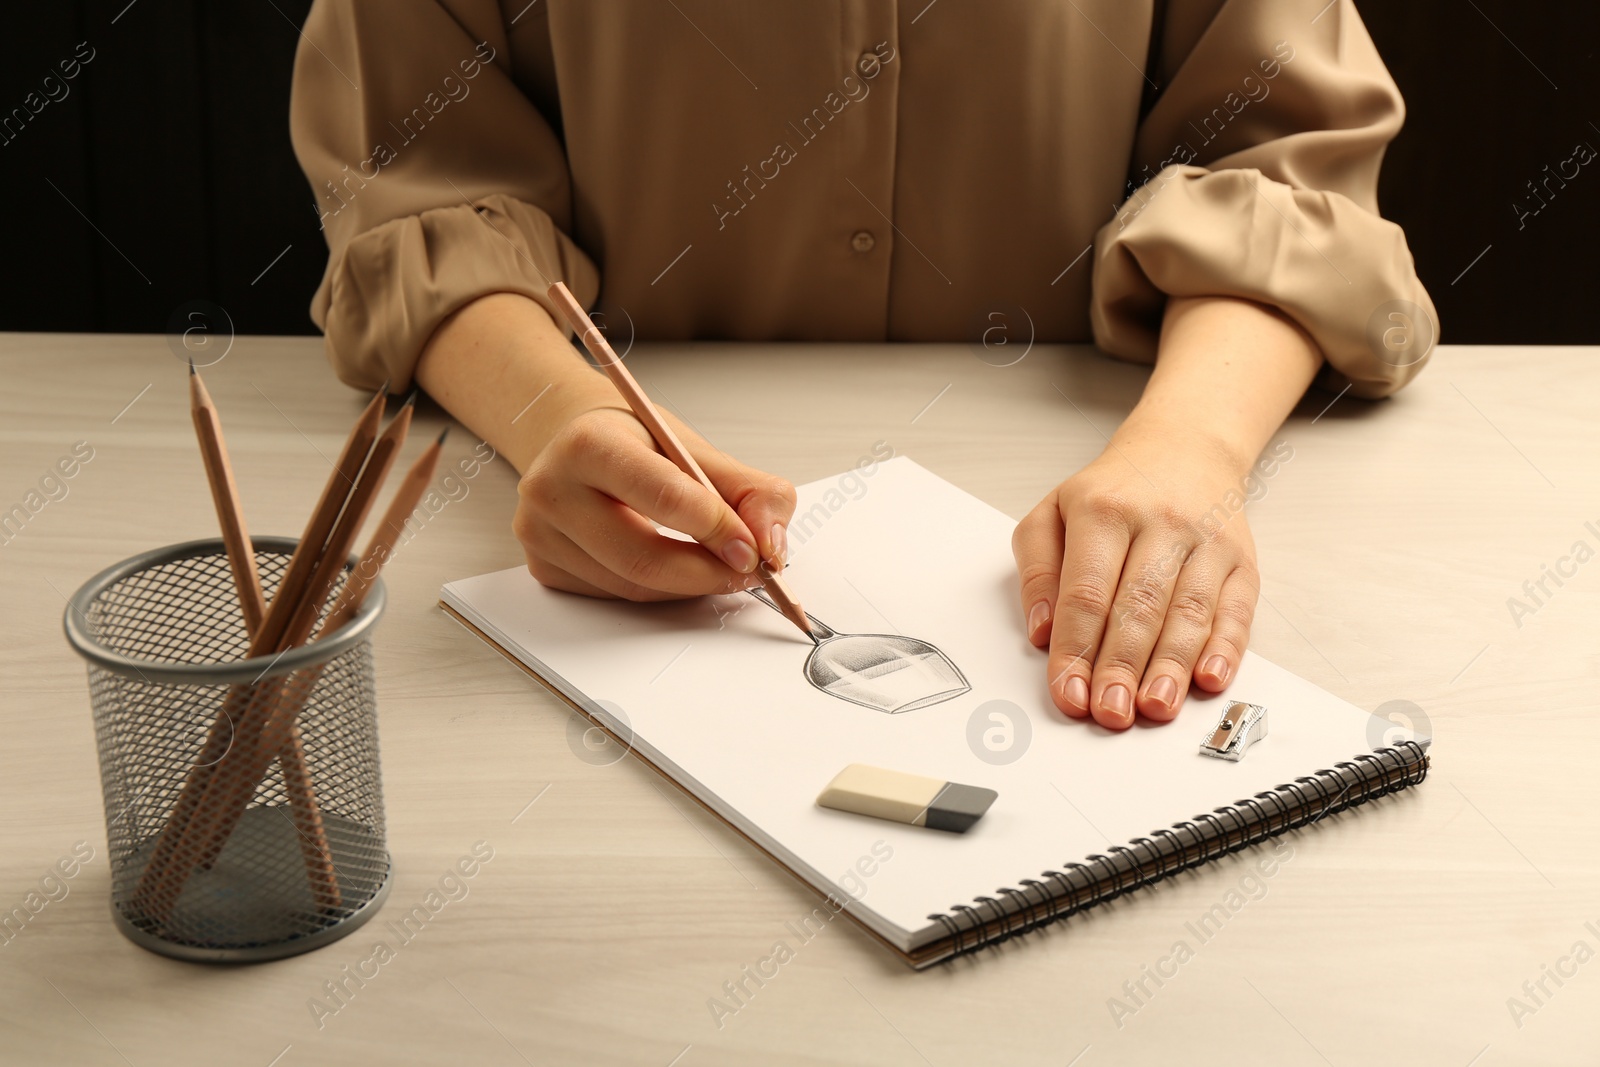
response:
<path fill-rule="evenodd" d="M 346 382 L 416 381 L 525 472 L 547 585 L 742 587 L 794 509 L 683 426 L 726 502 L 659 456 L 552 280 L 643 339 L 966 341 L 1021 306 L 1155 365 L 1013 547 L 1056 705 L 1170 720 L 1250 635 L 1254 547 L 1216 504 L 1314 379 L 1382 397 L 1437 338 L 1378 214 L 1403 107 L 1350 0 L 398 8 L 317 0 L 302 35 L 312 317 Z"/>

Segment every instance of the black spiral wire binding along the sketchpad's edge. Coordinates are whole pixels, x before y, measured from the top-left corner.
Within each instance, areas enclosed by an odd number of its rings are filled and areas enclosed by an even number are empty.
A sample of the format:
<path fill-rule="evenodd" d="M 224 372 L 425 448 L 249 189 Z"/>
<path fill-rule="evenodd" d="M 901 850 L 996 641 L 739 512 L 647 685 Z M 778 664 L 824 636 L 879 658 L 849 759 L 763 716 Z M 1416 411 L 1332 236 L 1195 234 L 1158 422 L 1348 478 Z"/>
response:
<path fill-rule="evenodd" d="M 998 896 L 978 896 L 971 904 L 952 904 L 949 912 L 928 915 L 944 926 L 949 944 L 920 965 L 998 945 L 1285 830 L 1418 785 L 1427 777 L 1427 750 L 1414 741 L 1403 741 L 1174 822 L 1171 829 L 1152 830 L 1150 837 L 1112 845 L 1106 849 L 1109 856 L 1090 853 L 1085 856 L 1090 862 L 1067 861 L 1061 865 L 1062 870 L 1042 872 L 1040 878 L 1045 881 L 1021 878 L 1021 889 L 1002 886 L 995 889 Z M 1030 893 L 1037 893 L 1037 904 L 1029 897 Z"/>

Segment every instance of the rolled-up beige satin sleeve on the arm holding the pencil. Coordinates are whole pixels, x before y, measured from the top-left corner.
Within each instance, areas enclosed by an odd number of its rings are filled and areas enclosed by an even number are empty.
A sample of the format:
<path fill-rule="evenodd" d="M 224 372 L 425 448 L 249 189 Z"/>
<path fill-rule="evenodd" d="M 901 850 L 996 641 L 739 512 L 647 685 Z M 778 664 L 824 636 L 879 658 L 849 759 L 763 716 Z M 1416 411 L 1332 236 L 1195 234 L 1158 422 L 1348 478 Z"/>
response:
<path fill-rule="evenodd" d="M 350 386 L 400 390 L 478 296 L 522 293 L 560 323 L 549 285 L 589 306 L 600 277 L 566 235 L 562 142 L 512 80 L 498 3 L 390 6 L 315 0 L 290 131 L 328 240 L 312 299 L 328 358 Z"/>

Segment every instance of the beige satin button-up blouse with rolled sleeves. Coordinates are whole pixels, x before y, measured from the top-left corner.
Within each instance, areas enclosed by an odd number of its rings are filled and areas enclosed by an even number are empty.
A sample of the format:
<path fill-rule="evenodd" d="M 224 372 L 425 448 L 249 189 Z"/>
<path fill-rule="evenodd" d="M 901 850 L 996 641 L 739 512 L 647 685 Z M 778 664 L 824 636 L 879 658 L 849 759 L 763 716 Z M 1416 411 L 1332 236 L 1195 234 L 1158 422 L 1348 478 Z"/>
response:
<path fill-rule="evenodd" d="M 395 389 L 445 315 L 560 278 L 642 339 L 1021 309 L 1144 362 L 1166 296 L 1240 296 L 1384 395 L 1437 339 L 1378 214 L 1402 118 L 1350 0 L 317 0 L 291 107 L 312 318 Z"/>

